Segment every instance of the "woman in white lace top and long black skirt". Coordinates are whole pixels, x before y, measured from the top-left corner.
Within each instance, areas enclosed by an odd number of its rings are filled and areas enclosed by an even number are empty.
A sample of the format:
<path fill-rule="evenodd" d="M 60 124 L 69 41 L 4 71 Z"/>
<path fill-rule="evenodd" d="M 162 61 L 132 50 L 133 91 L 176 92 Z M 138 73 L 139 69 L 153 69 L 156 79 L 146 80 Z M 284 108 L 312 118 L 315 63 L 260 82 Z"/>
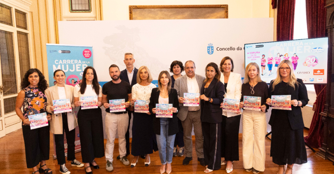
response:
<path fill-rule="evenodd" d="M 132 87 L 132 100 L 131 105 L 135 109 L 143 108 L 148 110 L 148 103 L 150 102 L 152 89 L 156 86 L 152 83 L 152 76 L 150 70 L 146 66 L 139 68 L 137 73 L 137 84 Z M 143 105 L 135 104 L 136 100 L 146 100 Z M 154 146 L 154 132 L 153 122 L 150 112 L 146 113 L 135 112 L 133 113 L 132 122 L 132 143 L 131 154 L 134 159 L 131 162 L 131 167 L 136 166 L 138 157 L 145 155 L 145 166 L 151 163 L 150 154 L 158 150 L 158 146 Z"/>

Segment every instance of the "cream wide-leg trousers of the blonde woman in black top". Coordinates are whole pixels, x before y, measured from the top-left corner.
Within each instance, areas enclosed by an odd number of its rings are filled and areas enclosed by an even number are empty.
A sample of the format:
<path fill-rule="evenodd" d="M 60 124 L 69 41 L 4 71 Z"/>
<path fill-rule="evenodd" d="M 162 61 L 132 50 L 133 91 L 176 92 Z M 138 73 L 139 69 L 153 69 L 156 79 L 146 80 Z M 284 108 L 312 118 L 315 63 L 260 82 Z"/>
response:
<path fill-rule="evenodd" d="M 243 110 L 242 113 L 242 158 L 243 168 L 265 171 L 267 133 L 266 113 Z"/>

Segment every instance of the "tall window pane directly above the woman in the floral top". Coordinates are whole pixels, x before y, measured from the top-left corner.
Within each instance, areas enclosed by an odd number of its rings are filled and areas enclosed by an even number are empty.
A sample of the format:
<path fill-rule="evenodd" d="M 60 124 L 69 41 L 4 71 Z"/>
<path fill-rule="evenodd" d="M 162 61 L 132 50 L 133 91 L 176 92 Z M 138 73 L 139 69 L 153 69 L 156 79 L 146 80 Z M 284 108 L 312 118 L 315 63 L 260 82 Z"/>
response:
<path fill-rule="evenodd" d="M 17 42 L 19 46 L 20 74 L 22 81 L 24 74 L 30 69 L 28 33 L 17 31 Z"/>

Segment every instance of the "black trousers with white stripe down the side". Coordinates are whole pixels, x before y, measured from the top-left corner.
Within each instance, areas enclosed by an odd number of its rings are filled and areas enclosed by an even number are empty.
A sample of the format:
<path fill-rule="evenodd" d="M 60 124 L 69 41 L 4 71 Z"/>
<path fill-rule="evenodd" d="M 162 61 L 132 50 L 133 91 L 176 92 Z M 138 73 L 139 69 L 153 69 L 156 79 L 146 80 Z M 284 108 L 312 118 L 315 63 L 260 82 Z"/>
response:
<path fill-rule="evenodd" d="M 204 162 L 210 170 L 220 169 L 221 123 L 202 122 Z"/>

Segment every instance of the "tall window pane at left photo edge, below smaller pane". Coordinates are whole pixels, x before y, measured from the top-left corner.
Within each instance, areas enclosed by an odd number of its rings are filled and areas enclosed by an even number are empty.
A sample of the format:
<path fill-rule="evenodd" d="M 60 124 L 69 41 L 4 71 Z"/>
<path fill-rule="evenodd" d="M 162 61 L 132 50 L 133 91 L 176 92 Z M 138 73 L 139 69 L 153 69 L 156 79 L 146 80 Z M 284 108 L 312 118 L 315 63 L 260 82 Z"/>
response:
<path fill-rule="evenodd" d="M 17 93 L 13 33 L 0 30 L 0 59 L 3 94 Z"/>

